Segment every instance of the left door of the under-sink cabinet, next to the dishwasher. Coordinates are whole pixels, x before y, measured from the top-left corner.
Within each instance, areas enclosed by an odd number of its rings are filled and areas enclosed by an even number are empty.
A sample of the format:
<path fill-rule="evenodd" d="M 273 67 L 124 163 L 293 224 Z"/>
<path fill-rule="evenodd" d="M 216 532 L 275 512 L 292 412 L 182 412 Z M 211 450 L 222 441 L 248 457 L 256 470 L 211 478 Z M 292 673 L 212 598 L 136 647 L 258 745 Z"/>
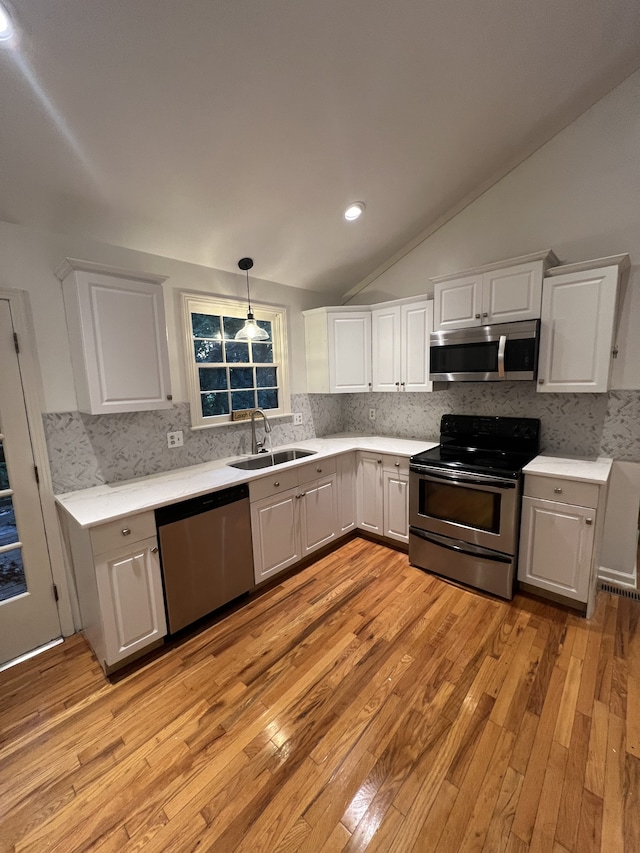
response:
<path fill-rule="evenodd" d="M 298 524 L 299 489 L 251 505 L 256 583 L 297 563 L 302 556 Z"/>

